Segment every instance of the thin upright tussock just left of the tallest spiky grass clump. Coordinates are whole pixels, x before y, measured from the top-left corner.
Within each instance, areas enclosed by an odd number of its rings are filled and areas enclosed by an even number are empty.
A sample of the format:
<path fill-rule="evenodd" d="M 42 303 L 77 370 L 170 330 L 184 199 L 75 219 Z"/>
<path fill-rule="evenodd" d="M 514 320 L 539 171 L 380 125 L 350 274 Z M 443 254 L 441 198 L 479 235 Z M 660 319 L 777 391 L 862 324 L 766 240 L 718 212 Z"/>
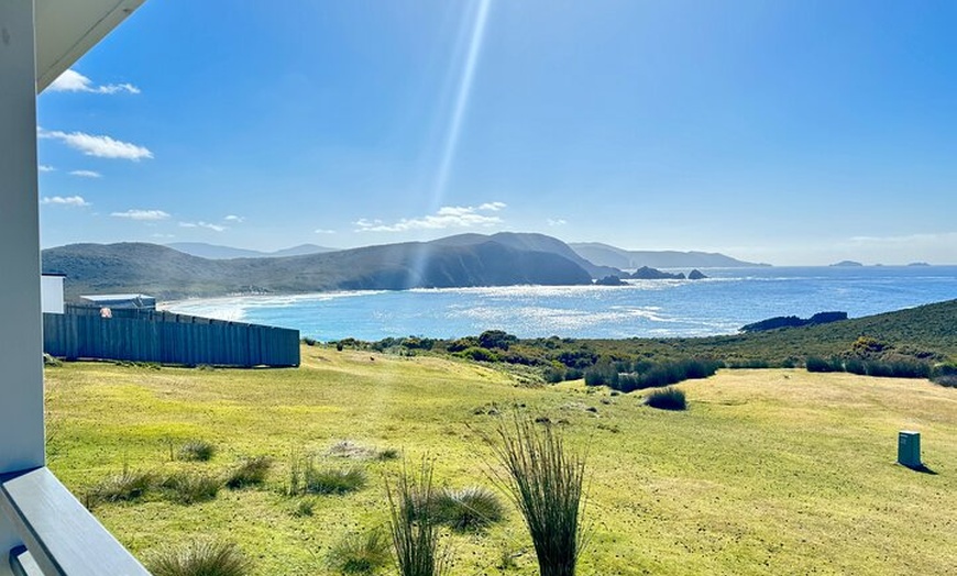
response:
<path fill-rule="evenodd" d="M 448 550 L 439 545 L 440 519 L 432 494 L 432 466 L 422 459 L 419 472 L 403 464 L 393 486 L 386 479 L 389 533 L 399 576 L 442 576 L 451 568 Z"/>

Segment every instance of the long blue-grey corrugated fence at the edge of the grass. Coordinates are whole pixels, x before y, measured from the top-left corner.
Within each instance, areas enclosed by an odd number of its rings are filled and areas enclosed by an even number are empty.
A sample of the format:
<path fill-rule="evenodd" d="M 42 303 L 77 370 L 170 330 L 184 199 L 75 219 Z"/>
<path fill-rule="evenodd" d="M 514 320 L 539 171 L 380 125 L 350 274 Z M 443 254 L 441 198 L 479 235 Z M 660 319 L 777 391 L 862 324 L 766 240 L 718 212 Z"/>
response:
<path fill-rule="evenodd" d="M 43 314 L 43 350 L 66 358 L 197 366 L 298 366 L 299 331 L 170 312 Z"/>

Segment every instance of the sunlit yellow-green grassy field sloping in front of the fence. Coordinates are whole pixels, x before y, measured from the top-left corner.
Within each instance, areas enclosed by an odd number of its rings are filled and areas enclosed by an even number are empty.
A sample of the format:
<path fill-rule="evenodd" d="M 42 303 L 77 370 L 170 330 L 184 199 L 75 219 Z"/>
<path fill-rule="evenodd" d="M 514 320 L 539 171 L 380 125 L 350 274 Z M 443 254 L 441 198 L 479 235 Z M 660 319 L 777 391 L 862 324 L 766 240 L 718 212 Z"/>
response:
<path fill-rule="evenodd" d="M 131 470 L 219 474 L 243 456 L 275 465 L 258 488 L 185 506 L 146 496 L 101 503 L 100 520 L 141 558 L 195 536 L 230 540 L 256 574 L 331 574 L 328 551 L 383 524 L 384 475 L 400 459 L 326 455 L 342 440 L 436 461 L 436 479 L 488 486 L 482 431 L 518 405 L 588 451 L 593 536 L 581 574 L 946 574 L 957 566 L 957 390 L 926 380 L 804 370 L 722 370 L 680 386 L 685 412 L 641 406 L 581 383 L 519 386 L 464 362 L 304 347 L 283 370 L 66 364 L 46 370 L 50 465 L 82 495 Z M 934 474 L 894 464 L 897 432 L 923 433 Z M 202 439 L 211 461 L 170 461 Z M 285 496 L 293 454 L 362 465 L 369 486 Z M 449 534 L 454 575 L 536 574 L 521 520 Z M 503 554 L 517 566 L 501 571 Z"/>

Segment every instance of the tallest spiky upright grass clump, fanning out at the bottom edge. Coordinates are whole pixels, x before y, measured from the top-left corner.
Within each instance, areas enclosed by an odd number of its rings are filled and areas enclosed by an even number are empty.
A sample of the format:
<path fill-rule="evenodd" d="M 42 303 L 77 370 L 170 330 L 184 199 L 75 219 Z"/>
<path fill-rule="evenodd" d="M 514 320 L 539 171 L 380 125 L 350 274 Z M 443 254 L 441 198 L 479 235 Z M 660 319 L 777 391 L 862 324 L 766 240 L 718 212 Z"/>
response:
<path fill-rule="evenodd" d="M 574 576 L 586 545 L 585 459 L 565 450 L 553 427 L 515 416 L 488 439 L 504 472 L 493 478 L 512 496 L 531 534 L 541 576 Z"/>

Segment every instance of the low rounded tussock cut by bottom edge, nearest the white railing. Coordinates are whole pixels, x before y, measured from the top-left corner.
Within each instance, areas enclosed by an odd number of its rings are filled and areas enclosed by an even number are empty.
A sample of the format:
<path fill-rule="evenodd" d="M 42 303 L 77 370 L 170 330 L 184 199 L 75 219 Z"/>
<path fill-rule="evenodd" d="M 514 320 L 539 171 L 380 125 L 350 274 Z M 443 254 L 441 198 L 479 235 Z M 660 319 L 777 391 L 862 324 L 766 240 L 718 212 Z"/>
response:
<path fill-rule="evenodd" d="M 193 542 L 155 553 L 146 566 L 153 576 L 246 576 L 252 562 L 229 542 Z"/>

